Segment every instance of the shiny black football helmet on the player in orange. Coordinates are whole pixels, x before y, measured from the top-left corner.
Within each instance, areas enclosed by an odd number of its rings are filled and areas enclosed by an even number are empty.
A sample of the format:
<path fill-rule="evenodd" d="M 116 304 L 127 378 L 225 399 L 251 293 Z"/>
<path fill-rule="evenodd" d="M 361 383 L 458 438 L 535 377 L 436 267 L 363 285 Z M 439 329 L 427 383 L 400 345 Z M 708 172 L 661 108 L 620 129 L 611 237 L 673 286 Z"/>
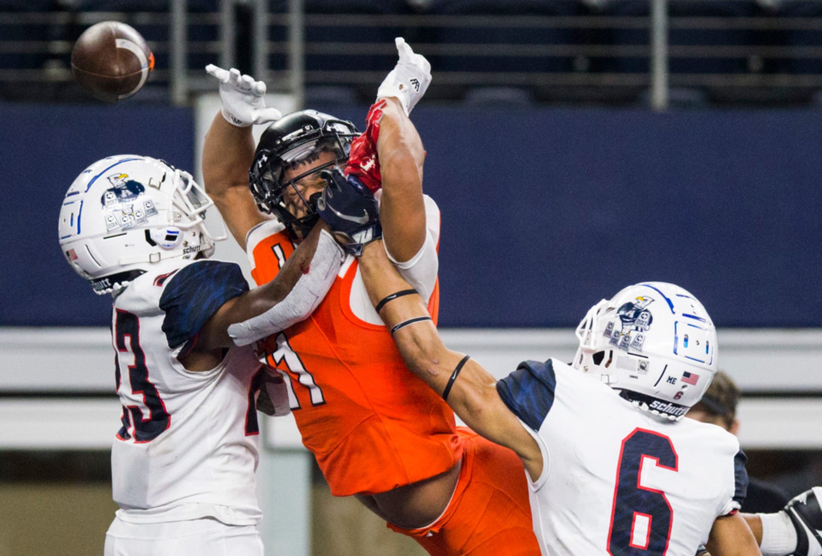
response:
<path fill-rule="evenodd" d="M 248 171 L 257 206 L 279 218 L 292 237 L 305 237 L 319 218 L 316 198 L 321 194 L 305 199 L 295 183 L 328 168 L 344 168 L 351 141 L 358 135 L 353 123 L 316 110 L 301 110 L 272 123 L 263 132 Z M 305 169 L 322 152 L 334 154 L 334 161 Z M 292 177 L 284 181 L 289 169 Z M 284 204 L 284 194 L 289 187 L 293 187 L 308 207 L 308 214 L 301 218 L 291 214 Z"/>

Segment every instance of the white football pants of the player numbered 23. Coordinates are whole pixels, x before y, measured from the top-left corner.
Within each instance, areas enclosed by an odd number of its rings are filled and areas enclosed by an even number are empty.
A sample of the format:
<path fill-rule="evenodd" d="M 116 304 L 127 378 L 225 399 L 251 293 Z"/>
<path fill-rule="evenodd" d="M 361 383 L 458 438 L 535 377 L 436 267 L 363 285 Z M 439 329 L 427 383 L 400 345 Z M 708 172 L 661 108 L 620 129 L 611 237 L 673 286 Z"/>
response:
<path fill-rule="evenodd" d="M 104 556 L 263 556 L 256 526 L 216 519 L 128 523 L 115 517 L 105 535 Z"/>

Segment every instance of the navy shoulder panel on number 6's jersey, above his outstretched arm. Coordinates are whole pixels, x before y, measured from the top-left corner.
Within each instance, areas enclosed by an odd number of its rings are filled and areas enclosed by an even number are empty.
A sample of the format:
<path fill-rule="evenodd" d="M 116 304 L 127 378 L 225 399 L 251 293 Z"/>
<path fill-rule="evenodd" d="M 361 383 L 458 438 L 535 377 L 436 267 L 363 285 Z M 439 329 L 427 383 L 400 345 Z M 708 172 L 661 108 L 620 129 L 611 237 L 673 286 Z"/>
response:
<path fill-rule="evenodd" d="M 556 390 L 556 374 L 551 360 L 524 361 L 496 383 L 496 392 L 508 409 L 533 430 L 539 430 L 551 411 Z"/>

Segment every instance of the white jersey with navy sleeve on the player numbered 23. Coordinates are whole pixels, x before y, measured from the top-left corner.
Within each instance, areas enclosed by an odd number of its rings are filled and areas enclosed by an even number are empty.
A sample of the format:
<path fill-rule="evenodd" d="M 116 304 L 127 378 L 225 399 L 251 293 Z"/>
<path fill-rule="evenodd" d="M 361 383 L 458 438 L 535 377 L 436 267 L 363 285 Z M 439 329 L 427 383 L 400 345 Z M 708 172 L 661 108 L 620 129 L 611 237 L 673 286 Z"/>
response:
<path fill-rule="evenodd" d="M 259 522 L 254 471 L 260 362 L 252 347 L 227 350 L 205 372 L 186 370 L 178 361 L 205 321 L 247 290 L 237 264 L 170 260 L 115 299 L 112 341 L 122 428 L 112 448 L 112 482 L 123 521 Z"/>

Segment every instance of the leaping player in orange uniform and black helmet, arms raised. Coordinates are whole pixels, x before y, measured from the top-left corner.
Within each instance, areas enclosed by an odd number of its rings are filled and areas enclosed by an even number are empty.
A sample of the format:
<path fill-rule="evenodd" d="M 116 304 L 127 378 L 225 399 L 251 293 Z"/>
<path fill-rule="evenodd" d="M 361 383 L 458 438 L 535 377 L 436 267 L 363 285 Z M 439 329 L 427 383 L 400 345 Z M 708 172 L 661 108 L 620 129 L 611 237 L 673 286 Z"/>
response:
<path fill-rule="evenodd" d="M 305 110 L 269 126 L 255 150 L 249 126 L 270 110 L 264 85 L 210 67 L 223 114 L 205 140 L 203 176 L 260 284 L 316 224 L 317 200 L 326 183 L 346 179 L 344 168 L 365 194 L 376 191 L 386 254 L 436 321 L 440 217 L 423 195 L 425 151 L 408 117 L 431 80 L 430 65 L 404 40 L 397 48 L 399 63 L 356 140 L 350 122 Z M 370 227 L 375 216 L 349 217 L 363 224 L 360 248 L 379 235 Z M 332 494 L 356 495 L 430 554 L 539 554 L 519 459 L 456 427 L 446 403 L 405 368 L 355 257 L 344 260 L 311 315 L 295 316 L 305 319 L 268 339 L 266 359 L 290 378 L 302 442 Z"/>

